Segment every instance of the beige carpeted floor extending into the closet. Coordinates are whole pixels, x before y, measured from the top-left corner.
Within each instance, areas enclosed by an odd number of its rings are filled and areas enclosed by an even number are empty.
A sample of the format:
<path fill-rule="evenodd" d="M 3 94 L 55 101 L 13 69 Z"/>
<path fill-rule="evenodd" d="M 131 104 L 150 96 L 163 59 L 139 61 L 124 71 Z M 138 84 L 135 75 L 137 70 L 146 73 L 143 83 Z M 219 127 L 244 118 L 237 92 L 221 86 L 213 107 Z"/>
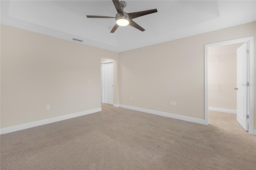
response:
<path fill-rule="evenodd" d="M 1 135 L 1 170 L 255 170 L 256 136 L 236 115 L 210 125 L 115 108 Z"/>

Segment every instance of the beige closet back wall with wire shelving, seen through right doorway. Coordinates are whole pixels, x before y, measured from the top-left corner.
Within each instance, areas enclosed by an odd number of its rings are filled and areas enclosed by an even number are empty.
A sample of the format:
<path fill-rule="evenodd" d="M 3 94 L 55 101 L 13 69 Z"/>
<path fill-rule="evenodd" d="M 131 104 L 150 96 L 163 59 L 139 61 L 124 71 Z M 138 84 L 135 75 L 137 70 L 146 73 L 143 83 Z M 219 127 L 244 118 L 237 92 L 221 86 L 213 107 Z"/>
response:
<path fill-rule="evenodd" d="M 209 107 L 236 110 L 236 49 L 242 44 L 209 48 Z"/>

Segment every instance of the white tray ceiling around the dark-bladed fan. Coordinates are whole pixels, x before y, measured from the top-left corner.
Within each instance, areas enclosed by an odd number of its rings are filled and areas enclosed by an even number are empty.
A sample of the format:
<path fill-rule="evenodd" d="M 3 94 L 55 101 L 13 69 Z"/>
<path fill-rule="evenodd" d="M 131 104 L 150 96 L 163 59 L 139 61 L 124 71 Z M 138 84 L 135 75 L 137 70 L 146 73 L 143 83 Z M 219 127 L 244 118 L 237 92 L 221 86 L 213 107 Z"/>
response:
<path fill-rule="evenodd" d="M 64 40 L 78 38 L 84 42 L 77 43 L 121 52 L 256 21 L 256 0 L 126 2 L 127 13 L 158 10 L 133 19 L 146 31 L 120 26 L 112 34 L 114 18 L 86 18 L 86 15 L 115 17 L 112 0 L 1 0 L 1 24 Z"/>

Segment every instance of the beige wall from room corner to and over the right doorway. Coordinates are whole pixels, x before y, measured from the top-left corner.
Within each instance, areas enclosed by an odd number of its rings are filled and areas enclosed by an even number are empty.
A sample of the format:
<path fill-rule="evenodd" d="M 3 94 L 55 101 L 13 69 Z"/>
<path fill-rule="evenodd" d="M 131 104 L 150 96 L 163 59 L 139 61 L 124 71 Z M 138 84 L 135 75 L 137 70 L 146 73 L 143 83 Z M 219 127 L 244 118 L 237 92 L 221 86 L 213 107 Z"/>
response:
<path fill-rule="evenodd" d="M 121 52 L 120 104 L 204 119 L 204 45 L 250 36 L 256 22 Z"/>

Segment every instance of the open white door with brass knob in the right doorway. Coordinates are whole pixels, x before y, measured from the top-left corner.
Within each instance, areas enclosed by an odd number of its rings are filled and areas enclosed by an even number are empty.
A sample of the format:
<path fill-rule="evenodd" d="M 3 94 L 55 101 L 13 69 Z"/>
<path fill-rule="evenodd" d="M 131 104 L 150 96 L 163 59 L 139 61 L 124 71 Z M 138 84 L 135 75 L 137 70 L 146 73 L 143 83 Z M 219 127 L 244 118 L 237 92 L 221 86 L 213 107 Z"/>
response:
<path fill-rule="evenodd" d="M 244 43 L 237 49 L 237 115 L 236 120 L 238 123 L 248 131 L 248 119 L 246 115 L 248 114 L 248 70 L 247 70 L 247 60 L 248 55 L 246 50 L 248 49 L 248 44 Z"/>

